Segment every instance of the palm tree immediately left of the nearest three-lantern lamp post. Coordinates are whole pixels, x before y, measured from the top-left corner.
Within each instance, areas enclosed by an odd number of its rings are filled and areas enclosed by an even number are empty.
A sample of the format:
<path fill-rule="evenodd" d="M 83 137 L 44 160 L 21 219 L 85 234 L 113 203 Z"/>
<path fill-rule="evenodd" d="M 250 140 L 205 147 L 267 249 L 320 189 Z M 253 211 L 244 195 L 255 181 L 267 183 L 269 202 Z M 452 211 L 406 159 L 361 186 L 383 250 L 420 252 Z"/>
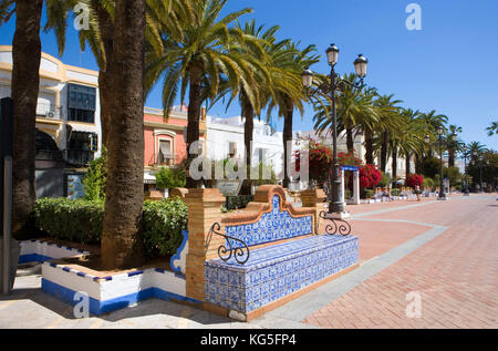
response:
<path fill-rule="evenodd" d="M 283 187 L 288 188 L 290 185 L 288 154 L 291 152 L 288 149 L 288 143 L 292 142 L 293 113 L 298 109 L 302 116 L 304 113 L 303 102 L 308 101 L 302 89 L 301 73 L 304 69 L 319 62 L 320 56 L 313 54 L 317 51 L 315 45 L 299 50 L 298 44 L 288 42 L 283 48 L 273 45 L 272 49 L 270 54 L 271 72 L 276 94 L 270 94 L 268 118 L 273 109 L 278 109 L 278 115 L 283 116 Z"/>

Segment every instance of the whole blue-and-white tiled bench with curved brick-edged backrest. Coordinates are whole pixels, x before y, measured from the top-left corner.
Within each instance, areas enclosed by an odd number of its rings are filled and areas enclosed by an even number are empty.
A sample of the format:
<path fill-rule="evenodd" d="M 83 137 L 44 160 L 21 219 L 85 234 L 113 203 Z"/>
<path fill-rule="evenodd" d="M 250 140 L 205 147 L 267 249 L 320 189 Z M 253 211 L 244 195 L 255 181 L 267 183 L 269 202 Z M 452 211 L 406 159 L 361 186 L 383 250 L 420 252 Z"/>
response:
<path fill-rule="evenodd" d="M 222 218 L 224 233 L 211 228 L 222 239 L 220 255 L 205 261 L 205 301 L 249 320 L 353 269 L 357 237 L 315 235 L 315 214 L 294 208 L 281 188 L 261 187 L 247 210 Z"/>

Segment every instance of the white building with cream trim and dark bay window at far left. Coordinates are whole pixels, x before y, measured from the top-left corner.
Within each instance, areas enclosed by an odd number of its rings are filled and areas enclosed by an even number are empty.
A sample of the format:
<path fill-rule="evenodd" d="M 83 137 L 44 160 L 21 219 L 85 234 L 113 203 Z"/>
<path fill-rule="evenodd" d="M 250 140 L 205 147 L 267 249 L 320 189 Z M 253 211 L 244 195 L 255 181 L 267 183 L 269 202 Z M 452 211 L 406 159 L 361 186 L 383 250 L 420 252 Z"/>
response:
<path fill-rule="evenodd" d="M 11 96 L 12 63 L 12 47 L 1 45 L 0 97 Z M 37 196 L 81 195 L 85 166 L 101 151 L 98 72 L 68 65 L 42 53 L 37 105 Z"/>

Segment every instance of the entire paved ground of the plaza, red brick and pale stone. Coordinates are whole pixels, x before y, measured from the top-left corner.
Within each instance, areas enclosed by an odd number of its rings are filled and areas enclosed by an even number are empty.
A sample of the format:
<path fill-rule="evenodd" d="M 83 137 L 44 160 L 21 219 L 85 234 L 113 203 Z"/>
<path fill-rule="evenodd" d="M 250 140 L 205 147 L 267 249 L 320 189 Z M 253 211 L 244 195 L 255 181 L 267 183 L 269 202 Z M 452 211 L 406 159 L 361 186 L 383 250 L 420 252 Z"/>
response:
<path fill-rule="evenodd" d="M 75 319 L 71 306 L 41 291 L 38 267 L 20 270 L 12 296 L 0 298 L 0 328 L 498 327 L 496 195 L 349 210 L 360 267 L 250 323 L 157 299 Z"/>

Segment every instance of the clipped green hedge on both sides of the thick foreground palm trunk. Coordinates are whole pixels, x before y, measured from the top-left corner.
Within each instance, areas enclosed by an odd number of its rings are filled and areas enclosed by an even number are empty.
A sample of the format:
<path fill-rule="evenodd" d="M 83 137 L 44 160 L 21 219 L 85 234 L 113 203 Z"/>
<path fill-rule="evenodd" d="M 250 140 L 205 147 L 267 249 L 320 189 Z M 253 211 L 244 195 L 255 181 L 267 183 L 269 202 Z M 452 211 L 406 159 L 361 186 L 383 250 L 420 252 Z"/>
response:
<path fill-rule="evenodd" d="M 37 227 L 50 237 L 82 244 L 101 241 L 104 203 L 42 198 L 34 206 Z M 141 238 L 148 258 L 174 255 L 187 229 L 188 208 L 179 198 L 145 202 Z"/>

